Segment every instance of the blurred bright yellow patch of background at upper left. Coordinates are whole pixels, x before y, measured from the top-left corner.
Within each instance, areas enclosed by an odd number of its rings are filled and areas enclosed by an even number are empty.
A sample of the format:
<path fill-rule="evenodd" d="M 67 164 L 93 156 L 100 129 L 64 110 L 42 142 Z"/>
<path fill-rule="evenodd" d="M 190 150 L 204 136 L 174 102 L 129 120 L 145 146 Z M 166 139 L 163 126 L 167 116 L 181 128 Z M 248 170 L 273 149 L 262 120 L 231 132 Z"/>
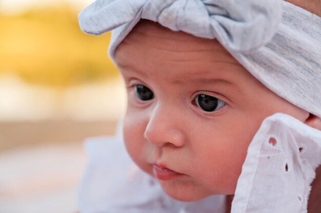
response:
<path fill-rule="evenodd" d="M 39 85 L 68 87 L 114 77 L 107 58 L 110 34 L 94 37 L 78 27 L 70 4 L 0 16 L 0 74 Z"/>

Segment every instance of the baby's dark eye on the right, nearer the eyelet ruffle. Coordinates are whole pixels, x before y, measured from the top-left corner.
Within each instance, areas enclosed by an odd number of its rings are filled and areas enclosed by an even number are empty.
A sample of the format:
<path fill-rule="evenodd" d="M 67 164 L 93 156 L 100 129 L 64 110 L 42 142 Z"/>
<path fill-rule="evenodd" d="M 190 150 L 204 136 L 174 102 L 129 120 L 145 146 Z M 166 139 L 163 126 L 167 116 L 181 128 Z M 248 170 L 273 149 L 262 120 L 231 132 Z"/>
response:
<path fill-rule="evenodd" d="M 224 101 L 206 94 L 199 94 L 194 101 L 199 108 L 207 112 L 216 111 L 226 105 Z"/>

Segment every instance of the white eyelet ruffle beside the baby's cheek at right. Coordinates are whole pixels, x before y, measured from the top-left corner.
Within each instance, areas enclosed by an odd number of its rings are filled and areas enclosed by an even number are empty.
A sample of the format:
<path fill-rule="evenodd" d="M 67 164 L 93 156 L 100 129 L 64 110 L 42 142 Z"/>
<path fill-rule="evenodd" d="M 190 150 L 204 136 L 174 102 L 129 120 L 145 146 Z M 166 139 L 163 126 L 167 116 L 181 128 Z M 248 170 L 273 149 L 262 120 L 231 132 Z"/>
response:
<path fill-rule="evenodd" d="M 268 117 L 248 148 L 231 212 L 307 212 L 310 184 L 320 163 L 321 131 L 289 115 Z"/>

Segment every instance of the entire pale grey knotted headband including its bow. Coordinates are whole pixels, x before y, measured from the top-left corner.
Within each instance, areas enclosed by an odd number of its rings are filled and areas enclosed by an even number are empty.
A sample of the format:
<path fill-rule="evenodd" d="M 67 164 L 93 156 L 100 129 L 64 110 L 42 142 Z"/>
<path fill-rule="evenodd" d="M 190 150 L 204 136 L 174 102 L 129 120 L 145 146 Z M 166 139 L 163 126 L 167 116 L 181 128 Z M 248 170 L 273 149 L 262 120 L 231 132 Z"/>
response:
<path fill-rule="evenodd" d="M 321 117 L 321 17 L 282 0 L 96 0 L 79 24 L 93 35 L 113 30 L 113 58 L 142 18 L 216 38 L 266 87 Z"/>

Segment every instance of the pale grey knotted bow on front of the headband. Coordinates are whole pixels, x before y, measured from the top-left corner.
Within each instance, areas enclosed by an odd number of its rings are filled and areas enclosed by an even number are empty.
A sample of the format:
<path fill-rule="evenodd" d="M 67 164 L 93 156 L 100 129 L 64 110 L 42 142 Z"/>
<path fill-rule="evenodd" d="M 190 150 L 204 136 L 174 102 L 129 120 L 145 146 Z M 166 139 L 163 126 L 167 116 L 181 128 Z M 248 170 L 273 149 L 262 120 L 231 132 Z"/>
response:
<path fill-rule="evenodd" d="M 280 0 L 97 0 L 79 14 L 79 24 L 100 35 L 143 18 L 247 52 L 270 41 L 281 17 Z"/>

